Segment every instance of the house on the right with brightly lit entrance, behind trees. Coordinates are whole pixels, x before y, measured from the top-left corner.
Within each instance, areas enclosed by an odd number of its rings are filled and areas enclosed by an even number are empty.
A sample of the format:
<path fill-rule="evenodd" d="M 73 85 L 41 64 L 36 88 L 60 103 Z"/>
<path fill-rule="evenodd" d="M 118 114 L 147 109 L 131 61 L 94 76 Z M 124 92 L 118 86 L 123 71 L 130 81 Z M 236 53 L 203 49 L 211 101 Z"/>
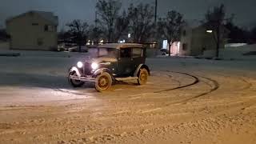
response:
<path fill-rule="evenodd" d="M 224 39 L 220 44 L 220 49 L 224 49 L 228 30 L 222 29 Z M 170 46 L 170 53 L 172 55 L 190 55 L 198 56 L 202 55 L 205 50 L 216 50 L 216 38 L 214 38 L 214 31 L 207 30 L 203 25 L 186 25 L 182 29 L 180 42 L 173 42 Z M 163 41 L 164 49 L 168 50 L 167 41 Z"/>

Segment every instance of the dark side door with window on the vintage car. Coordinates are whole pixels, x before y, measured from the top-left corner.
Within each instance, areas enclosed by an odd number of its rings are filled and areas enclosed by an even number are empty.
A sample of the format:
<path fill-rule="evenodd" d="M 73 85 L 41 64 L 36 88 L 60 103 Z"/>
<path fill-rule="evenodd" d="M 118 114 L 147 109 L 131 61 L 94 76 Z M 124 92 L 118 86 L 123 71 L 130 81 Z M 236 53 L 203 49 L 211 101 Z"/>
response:
<path fill-rule="evenodd" d="M 118 58 L 118 76 L 120 77 L 126 77 L 130 76 L 130 74 L 133 72 L 134 68 L 134 63 L 131 62 L 131 53 L 132 53 L 132 48 L 121 48 Z"/>

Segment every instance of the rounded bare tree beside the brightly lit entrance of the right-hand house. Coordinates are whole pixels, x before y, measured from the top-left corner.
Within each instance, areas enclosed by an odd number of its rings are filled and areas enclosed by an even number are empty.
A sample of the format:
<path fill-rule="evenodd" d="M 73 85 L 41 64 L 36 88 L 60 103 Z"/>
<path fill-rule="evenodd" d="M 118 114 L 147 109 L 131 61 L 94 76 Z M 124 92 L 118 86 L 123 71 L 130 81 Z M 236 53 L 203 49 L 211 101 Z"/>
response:
<path fill-rule="evenodd" d="M 170 46 L 174 41 L 178 41 L 180 39 L 184 23 L 182 14 L 174 10 L 169 11 L 166 14 L 166 17 L 159 18 L 158 20 L 158 34 L 162 34 L 162 36 L 167 39 L 169 43 L 169 56 Z"/>

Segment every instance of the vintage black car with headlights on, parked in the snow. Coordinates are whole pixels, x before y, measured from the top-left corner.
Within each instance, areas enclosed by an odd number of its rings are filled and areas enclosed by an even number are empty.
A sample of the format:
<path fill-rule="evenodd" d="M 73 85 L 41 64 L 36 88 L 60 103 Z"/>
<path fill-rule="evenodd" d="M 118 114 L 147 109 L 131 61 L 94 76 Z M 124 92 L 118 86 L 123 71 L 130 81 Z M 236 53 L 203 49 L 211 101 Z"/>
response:
<path fill-rule="evenodd" d="M 88 57 L 70 68 L 68 79 L 72 86 L 94 82 L 95 89 L 109 90 L 115 81 L 137 80 L 146 84 L 150 69 L 145 64 L 146 48 L 134 43 L 111 43 L 91 47 Z"/>

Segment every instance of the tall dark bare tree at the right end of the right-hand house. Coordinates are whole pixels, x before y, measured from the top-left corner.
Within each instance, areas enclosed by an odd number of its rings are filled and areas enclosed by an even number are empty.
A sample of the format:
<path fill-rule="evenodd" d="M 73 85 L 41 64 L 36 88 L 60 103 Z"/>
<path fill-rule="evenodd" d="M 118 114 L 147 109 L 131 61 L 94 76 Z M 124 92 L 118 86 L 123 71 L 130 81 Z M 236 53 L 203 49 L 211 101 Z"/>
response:
<path fill-rule="evenodd" d="M 225 6 L 215 6 L 213 10 L 208 10 L 206 13 L 206 28 L 212 30 L 214 34 L 214 39 L 216 42 L 216 57 L 218 58 L 220 43 L 223 40 L 225 34 L 224 24 L 225 22 L 230 22 L 230 18 L 226 18 Z"/>

